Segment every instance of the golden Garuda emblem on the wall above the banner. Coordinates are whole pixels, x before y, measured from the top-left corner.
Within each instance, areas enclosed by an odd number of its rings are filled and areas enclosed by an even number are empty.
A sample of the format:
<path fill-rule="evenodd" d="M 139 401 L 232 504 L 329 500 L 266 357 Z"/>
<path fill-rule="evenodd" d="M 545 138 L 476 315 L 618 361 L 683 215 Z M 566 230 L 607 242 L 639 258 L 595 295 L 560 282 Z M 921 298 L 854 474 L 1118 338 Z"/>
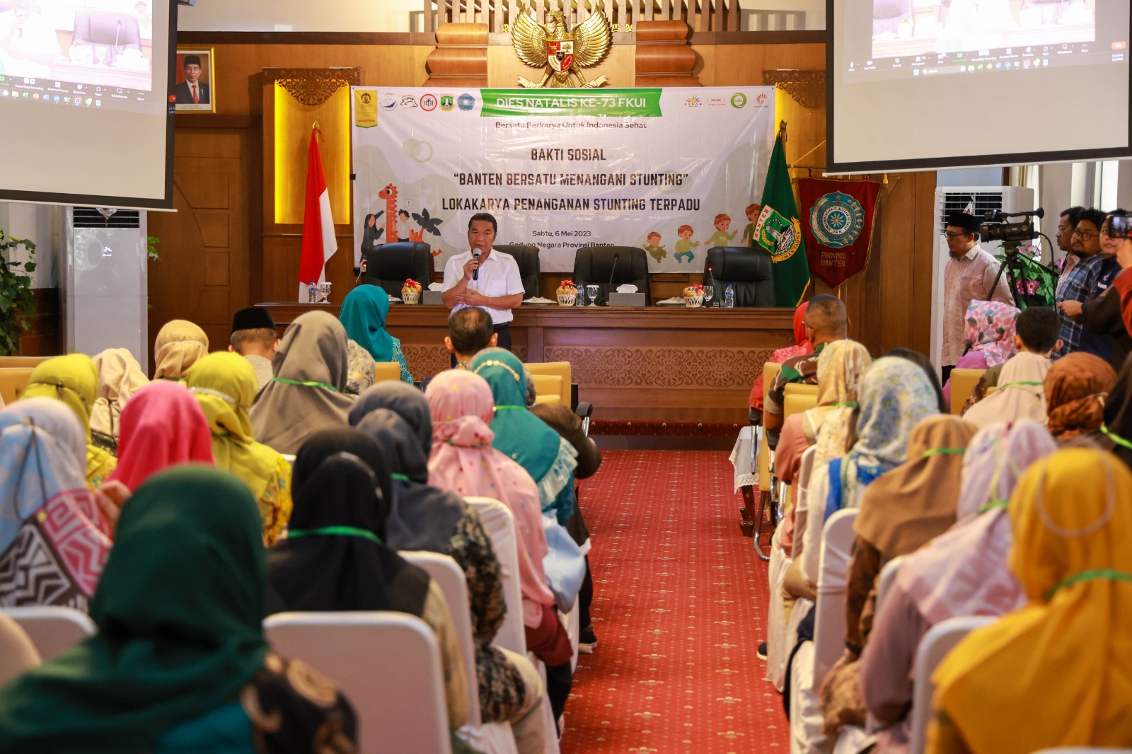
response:
<path fill-rule="evenodd" d="M 612 44 L 614 32 L 597 7 L 590 17 L 572 29 L 566 28 L 563 11 L 551 11 L 546 24 L 540 24 L 521 11 L 511 29 L 511 41 L 518 59 L 532 68 L 547 68 L 538 84 L 522 76 L 518 83 L 530 88 L 540 86 L 574 86 L 571 77 L 577 77 L 578 86 L 601 86 L 606 76 L 586 82 L 583 68 L 601 62 Z M 554 77 L 551 79 L 551 77 Z"/>

